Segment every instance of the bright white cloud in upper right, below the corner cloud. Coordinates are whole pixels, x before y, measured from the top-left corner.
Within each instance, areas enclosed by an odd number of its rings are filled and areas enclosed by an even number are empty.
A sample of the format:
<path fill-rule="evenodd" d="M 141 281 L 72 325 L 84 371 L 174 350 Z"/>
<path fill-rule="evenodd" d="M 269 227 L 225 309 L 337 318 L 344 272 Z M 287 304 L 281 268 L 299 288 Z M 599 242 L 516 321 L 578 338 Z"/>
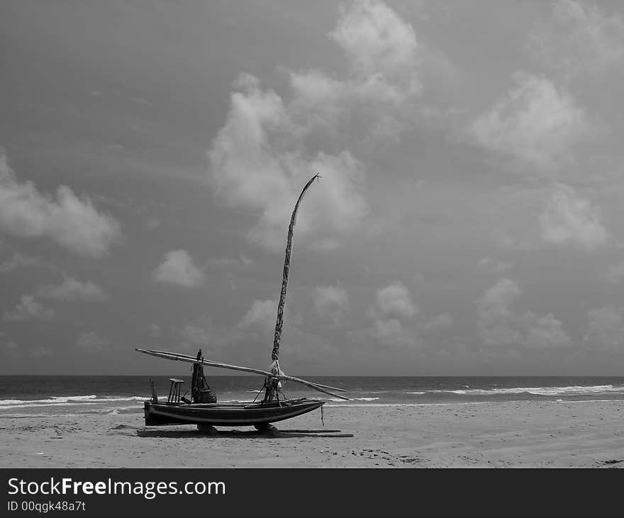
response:
<path fill-rule="evenodd" d="M 572 162 L 589 131 L 584 109 L 545 77 L 516 74 L 508 92 L 469 128 L 484 148 L 551 169 Z"/>

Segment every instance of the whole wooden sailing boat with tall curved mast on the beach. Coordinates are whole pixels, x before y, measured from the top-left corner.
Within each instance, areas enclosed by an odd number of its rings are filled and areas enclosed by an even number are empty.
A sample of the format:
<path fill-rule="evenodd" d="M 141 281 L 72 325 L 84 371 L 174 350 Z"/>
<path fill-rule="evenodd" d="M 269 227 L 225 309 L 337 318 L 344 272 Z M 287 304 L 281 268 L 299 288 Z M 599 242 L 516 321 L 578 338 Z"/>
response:
<path fill-rule="evenodd" d="M 189 356 L 182 353 L 169 353 L 165 351 L 154 351 L 152 349 L 136 349 L 140 353 L 145 353 L 158 358 L 167 360 L 183 361 L 193 364 L 191 376 L 191 400 L 181 396 L 181 387 L 183 380 L 171 379 L 171 387 L 169 389 L 169 397 L 166 402 L 159 401 L 158 395 L 153 382 L 152 399 L 145 402 L 145 424 L 147 426 L 164 426 L 171 424 L 196 424 L 200 431 L 208 431 L 216 433 L 213 426 L 255 426 L 261 431 L 272 431 L 274 427 L 271 423 L 291 419 L 292 417 L 312 412 L 321 408 L 325 401 L 321 399 L 288 399 L 284 396 L 282 390 L 282 382 L 293 381 L 306 385 L 313 390 L 324 392 L 325 394 L 340 399 L 349 400 L 348 397 L 337 394 L 336 392 L 345 392 L 338 387 L 330 387 L 321 385 L 320 383 L 302 380 L 289 376 L 279 367 L 279 346 L 282 336 L 282 326 L 284 323 L 284 304 L 286 302 L 286 287 L 288 284 L 290 258 L 292 250 L 293 229 L 296 221 L 297 210 L 303 194 L 313 183 L 319 178 L 315 175 L 303 187 L 299 199 L 294 206 L 288 228 L 288 236 L 286 239 L 286 256 L 284 258 L 284 275 L 282 279 L 282 291 L 279 296 L 277 305 L 277 322 L 275 324 L 275 333 L 273 341 L 273 349 L 271 354 L 272 365 L 270 370 L 260 370 L 250 367 L 241 367 L 239 365 L 230 365 L 215 360 L 206 360 L 201 356 L 201 349 L 196 356 Z M 238 370 L 246 373 L 255 373 L 264 376 L 264 398 L 259 402 L 247 403 L 218 403 L 216 395 L 206 381 L 204 376 L 204 366 L 225 368 L 230 370 Z M 261 391 L 262 392 L 262 391 Z M 322 409 L 322 408 L 321 408 Z"/>

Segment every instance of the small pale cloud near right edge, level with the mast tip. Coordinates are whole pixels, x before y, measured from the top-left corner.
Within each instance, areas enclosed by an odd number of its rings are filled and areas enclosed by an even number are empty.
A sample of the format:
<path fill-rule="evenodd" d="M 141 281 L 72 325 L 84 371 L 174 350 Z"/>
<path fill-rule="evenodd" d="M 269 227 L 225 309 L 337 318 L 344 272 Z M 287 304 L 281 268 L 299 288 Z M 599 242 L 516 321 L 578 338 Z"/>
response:
<path fill-rule="evenodd" d="M 594 250 L 606 243 L 609 234 L 600 214 L 588 200 L 567 185 L 557 184 L 540 214 L 541 237 L 545 243 L 573 244 Z"/>

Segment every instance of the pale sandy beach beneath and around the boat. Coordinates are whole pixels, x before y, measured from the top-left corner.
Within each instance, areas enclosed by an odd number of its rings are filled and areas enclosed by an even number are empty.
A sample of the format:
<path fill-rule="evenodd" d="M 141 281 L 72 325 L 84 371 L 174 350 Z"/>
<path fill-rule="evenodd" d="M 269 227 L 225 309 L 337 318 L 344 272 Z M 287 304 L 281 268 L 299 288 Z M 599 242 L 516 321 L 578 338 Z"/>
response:
<path fill-rule="evenodd" d="M 143 414 L 2 417 L 3 468 L 611 468 L 624 467 L 621 401 L 325 407 L 353 437 L 250 429 L 204 436 L 143 426 Z M 279 424 L 320 429 L 319 412 Z"/>

